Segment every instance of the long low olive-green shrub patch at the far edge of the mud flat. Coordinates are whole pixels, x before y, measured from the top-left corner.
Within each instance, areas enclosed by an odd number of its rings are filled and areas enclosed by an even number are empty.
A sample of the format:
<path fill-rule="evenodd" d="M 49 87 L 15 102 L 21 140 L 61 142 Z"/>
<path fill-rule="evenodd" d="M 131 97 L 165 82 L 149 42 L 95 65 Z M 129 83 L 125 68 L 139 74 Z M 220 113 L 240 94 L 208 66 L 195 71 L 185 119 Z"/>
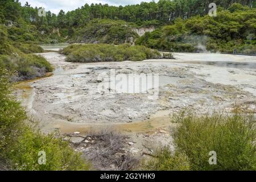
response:
<path fill-rule="evenodd" d="M 67 61 L 83 63 L 125 60 L 142 61 L 160 57 L 160 53 L 157 51 L 152 51 L 144 46 L 130 46 L 129 44 L 119 46 L 108 44 L 71 45 L 64 48 L 61 53 L 67 55 Z"/>

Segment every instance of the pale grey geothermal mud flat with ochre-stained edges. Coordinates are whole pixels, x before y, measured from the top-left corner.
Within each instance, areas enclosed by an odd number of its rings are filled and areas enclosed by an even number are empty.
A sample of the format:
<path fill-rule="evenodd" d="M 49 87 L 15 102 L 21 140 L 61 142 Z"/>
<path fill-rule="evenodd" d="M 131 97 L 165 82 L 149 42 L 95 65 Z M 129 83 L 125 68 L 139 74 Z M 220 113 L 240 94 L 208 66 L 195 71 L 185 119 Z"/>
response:
<path fill-rule="evenodd" d="M 253 56 L 175 53 L 174 60 L 82 64 L 65 62 L 65 56 L 56 52 L 40 55 L 55 67 L 55 72 L 51 77 L 23 82 L 24 88 L 17 94 L 46 133 L 56 129 L 88 133 L 109 127 L 133 134 L 134 146 L 172 145 L 170 115 L 180 110 L 198 114 L 229 112 L 237 104 L 255 112 Z M 146 89 L 146 93 L 99 89 L 113 70 L 115 75 L 158 74 L 158 98 L 148 97 L 148 90 L 154 88 Z"/>

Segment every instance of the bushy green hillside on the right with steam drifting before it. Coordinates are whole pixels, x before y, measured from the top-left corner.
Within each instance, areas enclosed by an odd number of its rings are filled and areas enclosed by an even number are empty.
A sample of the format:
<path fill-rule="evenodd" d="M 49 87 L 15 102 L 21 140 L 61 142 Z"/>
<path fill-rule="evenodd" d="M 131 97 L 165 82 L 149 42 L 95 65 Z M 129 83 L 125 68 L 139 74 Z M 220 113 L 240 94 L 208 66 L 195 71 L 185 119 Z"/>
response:
<path fill-rule="evenodd" d="M 137 44 L 167 51 L 256 53 L 256 9 L 233 4 L 217 17 L 176 19 L 172 25 L 146 33 Z"/>

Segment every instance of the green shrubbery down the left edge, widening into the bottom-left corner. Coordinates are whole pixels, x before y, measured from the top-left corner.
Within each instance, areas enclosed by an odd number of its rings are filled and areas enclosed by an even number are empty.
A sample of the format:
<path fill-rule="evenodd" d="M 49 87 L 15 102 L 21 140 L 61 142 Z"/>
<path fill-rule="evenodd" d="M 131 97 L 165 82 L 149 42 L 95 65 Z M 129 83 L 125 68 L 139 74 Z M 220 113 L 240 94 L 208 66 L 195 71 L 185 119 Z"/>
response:
<path fill-rule="evenodd" d="M 0 67 L 0 161 L 14 170 L 87 170 L 81 159 L 58 135 L 43 135 L 28 126 L 27 115 L 11 93 L 11 74 Z M 46 165 L 39 165 L 39 151 Z"/>

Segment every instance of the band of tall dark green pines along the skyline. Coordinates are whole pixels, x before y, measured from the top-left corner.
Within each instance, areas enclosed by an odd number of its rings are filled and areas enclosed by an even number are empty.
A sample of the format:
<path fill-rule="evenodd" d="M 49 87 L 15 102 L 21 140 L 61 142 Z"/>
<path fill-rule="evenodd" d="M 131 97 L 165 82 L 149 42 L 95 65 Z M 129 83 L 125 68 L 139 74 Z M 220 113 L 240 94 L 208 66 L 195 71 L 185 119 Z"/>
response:
<path fill-rule="evenodd" d="M 121 19 L 126 22 L 134 22 L 137 24 L 162 24 L 170 23 L 176 18 L 187 19 L 195 15 L 208 14 L 208 5 L 212 1 L 202 0 L 160 0 L 159 2 L 142 2 L 140 5 L 128 6 L 109 6 L 108 4 L 92 4 L 84 5 L 79 9 L 70 12 L 60 11 L 58 15 L 52 14 L 50 11 L 46 13 L 46 17 L 38 16 L 38 9 L 30 7 L 26 3 L 24 7 L 15 0 L 3 0 L 0 3 L 0 20 L 13 20 L 17 22 L 23 18 L 27 23 L 31 23 L 37 27 L 77 27 L 84 26 L 94 18 Z M 233 3 L 240 3 L 243 6 L 255 7 L 253 0 L 226 0 L 214 1 L 217 6 L 228 9 Z M 148 22 L 152 21 L 152 22 Z"/>

